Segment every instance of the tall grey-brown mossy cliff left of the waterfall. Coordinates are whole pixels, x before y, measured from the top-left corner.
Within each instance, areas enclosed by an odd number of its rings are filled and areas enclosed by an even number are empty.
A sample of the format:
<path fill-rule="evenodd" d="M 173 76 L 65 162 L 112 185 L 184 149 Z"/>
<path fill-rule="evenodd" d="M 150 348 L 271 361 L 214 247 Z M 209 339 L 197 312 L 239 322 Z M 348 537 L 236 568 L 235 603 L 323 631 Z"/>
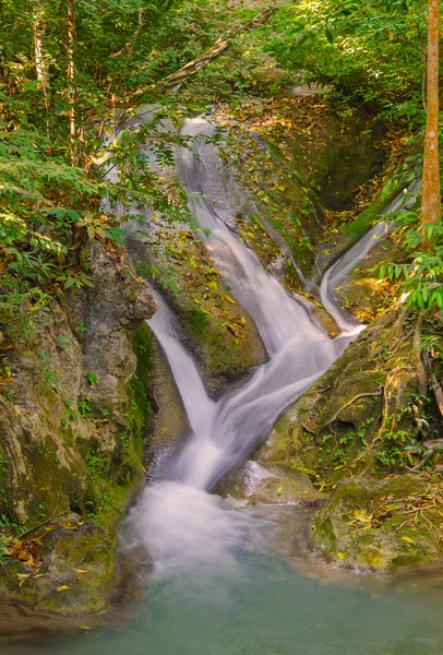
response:
<path fill-rule="evenodd" d="M 41 528 L 25 532 L 38 535 L 38 545 L 21 543 L 9 575 L 0 572 L 0 591 L 75 611 L 100 609 L 113 573 L 115 525 L 143 479 L 151 414 L 143 322 L 155 311 L 125 251 L 96 242 L 87 257 L 94 287 L 70 294 L 31 341 L 5 352 L 13 381 L 0 395 L 2 523 L 50 528 L 45 538 Z M 94 582 L 85 574 L 67 602 L 53 594 L 89 564 Z M 20 575 L 27 576 L 21 587 Z"/>

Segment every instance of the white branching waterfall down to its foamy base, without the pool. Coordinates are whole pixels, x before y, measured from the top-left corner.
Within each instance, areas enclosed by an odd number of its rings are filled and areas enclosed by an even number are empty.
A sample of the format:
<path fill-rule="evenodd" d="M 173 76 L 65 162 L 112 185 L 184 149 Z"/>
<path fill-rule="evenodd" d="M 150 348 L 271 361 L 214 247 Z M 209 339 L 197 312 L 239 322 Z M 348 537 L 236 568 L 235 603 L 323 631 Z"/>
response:
<path fill-rule="evenodd" d="M 372 234 L 368 235 L 325 276 L 324 305 L 346 332 L 331 340 L 214 212 L 196 152 L 199 138 L 211 134 L 211 124 L 193 119 L 187 121 L 183 131 L 196 139 L 196 145 L 193 151 L 181 148 L 178 153 L 180 179 L 192 192 L 191 209 L 200 226 L 209 233 L 207 246 L 216 265 L 237 301 L 255 321 L 268 361 L 240 390 L 212 401 L 180 343 L 170 310 L 158 299 L 159 310 L 149 325 L 170 362 L 191 434 L 169 458 L 160 479 L 147 486 L 130 517 L 139 541 L 153 559 L 156 575 L 177 575 L 203 562 L 217 563 L 218 568 L 234 562 L 230 552 L 248 533 L 244 528 L 250 517 L 226 508 L 208 491 L 248 456 L 282 412 L 327 370 L 359 332 L 360 325 L 339 311 L 331 289 L 374 243 Z"/>

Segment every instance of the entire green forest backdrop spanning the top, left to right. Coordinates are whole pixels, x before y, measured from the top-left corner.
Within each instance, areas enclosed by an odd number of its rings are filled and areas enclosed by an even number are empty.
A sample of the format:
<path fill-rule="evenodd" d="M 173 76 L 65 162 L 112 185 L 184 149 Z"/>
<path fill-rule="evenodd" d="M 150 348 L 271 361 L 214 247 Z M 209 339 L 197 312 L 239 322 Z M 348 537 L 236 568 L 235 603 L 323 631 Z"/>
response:
<path fill-rule="evenodd" d="M 14 330 L 31 329 L 39 310 L 48 310 L 63 289 L 88 284 L 81 262 L 87 239 L 121 238 L 121 226 L 111 212 L 104 214 L 101 199 L 148 204 L 170 217 L 183 214 L 180 189 L 166 188 L 137 152 L 149 133 L 163 140 L 164 162 L 170 163 L 172 138 L 156 133 L 165 115 L 179 122 L 209 105 L 241 107 L 256 95 L 278 96 L 288 83 L 322 85 L 337 111 L 363 110 L 371 120 L 402 130 L 406 156 L 390 186 L 419 175 L 426 3 L 288 2 L 275 5 L 261 28 L 248 32 L 248 21 L 261 9 L 255 4 L 2 3 L 8 38 L 0 60 L 0 307 L 10 325 L 12 314 L 17 319 Z M 202 66 L 182 84 L 165 82 L 229 31 L 228 55 Z M 256 71 L 276 69 L 282 74 L 258 80 Z M 142 103 L 161 105 L 157 119 L 112 140 L 116 123 Z M 118 179 L 110 183 L 104 171 L 117 165 Z M 432 228 L 432 248 L 422 252 L 420 234 L 410 229 L 416 218 L 404 218 L 410 261 L 391 274 L 405 276 L 418 307 L 441 308 L 441 227 Z M 21 311 L 24 301 L 26 312 Z"/>

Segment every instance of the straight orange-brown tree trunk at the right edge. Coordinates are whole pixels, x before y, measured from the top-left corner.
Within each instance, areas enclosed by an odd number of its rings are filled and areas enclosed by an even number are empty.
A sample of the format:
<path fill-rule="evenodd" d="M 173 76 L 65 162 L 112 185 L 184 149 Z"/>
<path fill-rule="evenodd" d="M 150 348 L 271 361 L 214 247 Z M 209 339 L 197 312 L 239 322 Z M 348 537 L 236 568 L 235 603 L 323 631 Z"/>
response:
<path fill-rule="evenodd" d="M 439 165 L 439 32 L 440 0 L 429 0 L 428 117 L 424 139 L 421 226 L 427 229 L 442 216 Z"/>

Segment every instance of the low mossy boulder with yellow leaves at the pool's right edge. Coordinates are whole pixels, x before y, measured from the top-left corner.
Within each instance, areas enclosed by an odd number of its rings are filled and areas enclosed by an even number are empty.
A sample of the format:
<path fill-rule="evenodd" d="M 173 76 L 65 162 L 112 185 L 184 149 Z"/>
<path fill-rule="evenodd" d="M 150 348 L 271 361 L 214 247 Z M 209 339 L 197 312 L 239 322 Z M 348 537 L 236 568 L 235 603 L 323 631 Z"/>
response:
<path fill-rule="evenodd" d="M 423 498 L 428 489 L 427 480 L 405 475 L 342 483 L 315 515 L 314 551 L 347 567 L 378 572 L 439 559 L 443 544 L 429 524 L 419 519 L 405 526 L 402 514 L 407 502 Z M 380 507 L 397 510 L 380 519 Z"/>

